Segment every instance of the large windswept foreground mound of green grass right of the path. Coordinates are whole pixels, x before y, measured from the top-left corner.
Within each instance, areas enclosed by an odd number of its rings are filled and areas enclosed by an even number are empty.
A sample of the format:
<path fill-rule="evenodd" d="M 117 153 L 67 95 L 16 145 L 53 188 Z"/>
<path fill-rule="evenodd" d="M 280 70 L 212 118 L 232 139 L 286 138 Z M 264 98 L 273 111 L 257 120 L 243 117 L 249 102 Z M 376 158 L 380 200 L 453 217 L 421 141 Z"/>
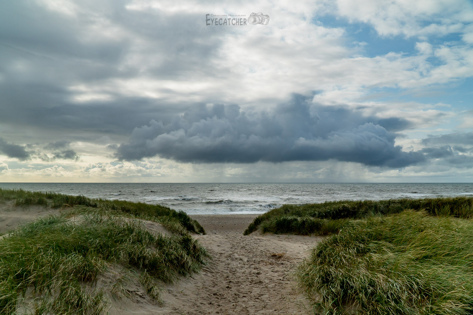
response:
<path fill-rule="evenodd" d="M 431 214 L 350 221 L 319 243 L 297 273 L 315 312 L 472 314 L 473 221 Z"/>

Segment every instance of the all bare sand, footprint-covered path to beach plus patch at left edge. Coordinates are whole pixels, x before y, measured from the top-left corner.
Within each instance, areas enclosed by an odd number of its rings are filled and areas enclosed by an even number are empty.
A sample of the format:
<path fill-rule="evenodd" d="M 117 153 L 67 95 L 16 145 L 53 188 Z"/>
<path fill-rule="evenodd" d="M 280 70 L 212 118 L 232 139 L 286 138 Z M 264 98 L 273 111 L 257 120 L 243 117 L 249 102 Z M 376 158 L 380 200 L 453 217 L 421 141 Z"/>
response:
<path fill-rule="evenodd" d="M 40 206 L 0 206 L 0 232 L 36 217 L 58 212 Z M 320 240 L 296 235 L 243 231 L 255 215 L 193 215 L 206 235 L 195 235 L 212 260 L 201 272 L 163 288 L 164 306 L 142 288 L 130 288 L 133 300 L 112 301 L 118 314 L 306 314 L 307 301 L 295 288 L 294 267 Z"/>

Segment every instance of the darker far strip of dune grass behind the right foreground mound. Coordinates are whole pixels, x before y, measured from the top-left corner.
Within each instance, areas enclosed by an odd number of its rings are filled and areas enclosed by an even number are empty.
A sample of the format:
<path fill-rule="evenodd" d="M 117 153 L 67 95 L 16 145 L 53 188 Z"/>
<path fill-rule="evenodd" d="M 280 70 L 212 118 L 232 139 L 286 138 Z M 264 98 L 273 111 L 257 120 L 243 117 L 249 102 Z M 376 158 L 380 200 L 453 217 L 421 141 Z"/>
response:
<path fill-rule="evenodd" d="M 286 204 L 254 219 L 246 228 L 248 235 L 261 227 L 263 232 L 320 234 L 337 233 L 349 219 L 400 213 L 405 209 L 426 211 L 431 215 L 473 217 L 473 197 L 331 201 L 320 204 Z"/>

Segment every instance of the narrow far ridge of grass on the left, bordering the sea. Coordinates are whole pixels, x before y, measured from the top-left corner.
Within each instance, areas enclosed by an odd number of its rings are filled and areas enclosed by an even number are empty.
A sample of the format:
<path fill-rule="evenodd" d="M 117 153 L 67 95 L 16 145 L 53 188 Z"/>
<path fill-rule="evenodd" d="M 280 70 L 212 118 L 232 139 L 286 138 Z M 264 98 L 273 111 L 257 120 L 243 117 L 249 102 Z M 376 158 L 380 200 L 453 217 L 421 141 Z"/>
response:
<path fill-rule="evenodd" d="M 71 196 L 54 192 L 31 192 L 23 189 L 0 188 L 0 201 L 14 200 L 17 206 L 44 205 L 52 208 L 66 208 L 82 205 L 97 208 L 106 213 L 128 214 L 148 220 L 158 220 L 170 227 L 181 225 L 184 230 L 205 234 L 203 227 L 184 211 L 175 211 L 162 205 L 135 203 L 123 200 L 91 199 L 83 195 Z M 167 223 L 166 223 L 167 222 Z"/>

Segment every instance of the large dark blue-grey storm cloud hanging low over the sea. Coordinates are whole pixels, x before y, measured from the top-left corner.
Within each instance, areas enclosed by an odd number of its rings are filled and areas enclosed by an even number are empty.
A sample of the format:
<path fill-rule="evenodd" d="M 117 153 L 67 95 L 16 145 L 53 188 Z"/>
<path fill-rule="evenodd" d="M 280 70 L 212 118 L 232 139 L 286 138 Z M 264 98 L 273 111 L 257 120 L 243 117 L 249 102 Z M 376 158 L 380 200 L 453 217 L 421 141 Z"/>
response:
<path fill-rule="evenodd" d="M 396 121 L 389 121 L 395 125 Z M 310 106 L 296 95 L 274 111 L 199 105 L 169 123 L 151 120 L 135 128 L 116 156 L 139 160 L 159 155 L 181 162 L 324 161 L 335 159 L 402 168 L 425 160 L 403 152 L 395 134 L 356 111 Z"/>

